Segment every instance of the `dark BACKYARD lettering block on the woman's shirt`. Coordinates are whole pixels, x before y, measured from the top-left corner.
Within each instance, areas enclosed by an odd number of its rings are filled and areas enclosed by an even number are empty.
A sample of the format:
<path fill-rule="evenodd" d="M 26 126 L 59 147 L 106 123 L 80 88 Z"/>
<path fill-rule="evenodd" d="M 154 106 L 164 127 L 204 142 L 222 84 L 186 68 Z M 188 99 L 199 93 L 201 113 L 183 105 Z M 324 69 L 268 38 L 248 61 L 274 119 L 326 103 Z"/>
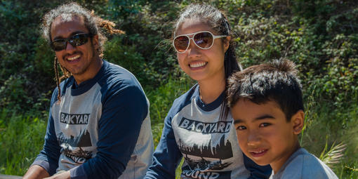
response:
<path fill-rule="evenodd" d="M 201 121 L 186 119 L 185 117 L 183 117 L 179 123 L 180 128 L 185 128 L 188 131 L 194 131 L 197 133 L 228 133 L 231 125 L 231 121 L 204 123 Z"/>

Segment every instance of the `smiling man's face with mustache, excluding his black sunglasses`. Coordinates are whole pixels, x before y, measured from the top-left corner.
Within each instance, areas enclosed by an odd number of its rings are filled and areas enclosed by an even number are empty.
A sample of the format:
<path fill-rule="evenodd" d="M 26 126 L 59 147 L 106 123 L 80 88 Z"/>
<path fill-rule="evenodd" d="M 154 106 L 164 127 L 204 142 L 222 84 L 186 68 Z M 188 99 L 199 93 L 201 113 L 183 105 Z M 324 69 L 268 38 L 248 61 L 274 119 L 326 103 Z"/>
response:
<path fill-rule="evenodd" d="M 75 34 L 86 33 L 88 29 L 84 25 L 84 18 L 78 16 L 72 16 L 67 20 L 63 20 L 61 16 L 58 16 L 53 20 L 51 25 L 51 40 L 67 39 Z M 67 42 L 67 46 L 62 51 L 55 51 L 55 54 L 62 67 L 65 67 L 72 73 L 74 78 L 84 81 L 88 77 L 93 77 L 98 71 L 95 63 L 98 58 L 95 48 L 98 48 L 98 36 L 93 38 L 88 37 L 86 44 L 81 46 L 72 46 Z M 93 74 L 95 73 L 95 74 Z M 81 80 L 84 79 L 84 80 Z M 79 82 L 77 80 L 77 82 Z"/>

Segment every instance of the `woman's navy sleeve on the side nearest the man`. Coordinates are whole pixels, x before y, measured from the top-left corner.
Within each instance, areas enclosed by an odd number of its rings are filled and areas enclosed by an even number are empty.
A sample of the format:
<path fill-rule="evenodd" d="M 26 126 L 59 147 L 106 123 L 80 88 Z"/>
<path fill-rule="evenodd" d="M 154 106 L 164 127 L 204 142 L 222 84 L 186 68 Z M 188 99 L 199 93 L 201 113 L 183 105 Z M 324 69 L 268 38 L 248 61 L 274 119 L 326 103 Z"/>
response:
<path fill-rule="evenodd" d="M 173 128 L 171 126 L 171 119 L 174 116 L 170 115 L 171 110 L 164 121 L 164 129 L 161 133 L 161 139 L 153 154 L 153 164 L 145 175 L 146 179 L 175 178 L 175 169 L 178 167 L 178 164 L 183 157 L 176 144 Z"/>

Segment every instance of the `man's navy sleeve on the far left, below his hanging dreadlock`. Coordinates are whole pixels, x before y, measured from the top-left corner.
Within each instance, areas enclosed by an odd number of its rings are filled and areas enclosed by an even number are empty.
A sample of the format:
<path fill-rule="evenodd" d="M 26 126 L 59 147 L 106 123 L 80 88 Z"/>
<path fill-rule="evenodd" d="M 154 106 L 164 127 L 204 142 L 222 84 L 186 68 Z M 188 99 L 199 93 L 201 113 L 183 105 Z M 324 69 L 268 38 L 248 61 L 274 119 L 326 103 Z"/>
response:
<path fill-rule="evenodd" d="M 51 104 L 53 104 L 53 102 L 57 100 L 57 94 L 58 93 L 56 89 L 53 92 Z M 48 117 L 44 148 L 41 150 L 40 154 L 34 160 L 34 163 L 32 163 L 32 165 L 39 165 L 44 168 L 50 175 L 53 175 L 56 173 L 56 168 L 58 168 L 58 159 L 60 158 L 60 145 L 58 145 L 51 109 L 52 105 L 50 107 Z"/>

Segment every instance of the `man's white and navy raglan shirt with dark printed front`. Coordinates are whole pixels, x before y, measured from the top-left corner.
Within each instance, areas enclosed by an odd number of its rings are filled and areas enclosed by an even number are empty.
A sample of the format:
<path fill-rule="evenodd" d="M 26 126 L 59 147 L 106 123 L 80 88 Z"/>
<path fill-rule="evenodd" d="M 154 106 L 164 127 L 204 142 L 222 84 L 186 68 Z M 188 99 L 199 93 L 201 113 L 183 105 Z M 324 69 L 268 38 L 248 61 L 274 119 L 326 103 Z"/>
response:
<path fill-rule="evenodd" d="M 133 74 L 103 60 L 93 79 L 55 88 L 44 149 L 33 164 L 71 178 L 142 178 L 154 150 L 149 102 Z"/>

